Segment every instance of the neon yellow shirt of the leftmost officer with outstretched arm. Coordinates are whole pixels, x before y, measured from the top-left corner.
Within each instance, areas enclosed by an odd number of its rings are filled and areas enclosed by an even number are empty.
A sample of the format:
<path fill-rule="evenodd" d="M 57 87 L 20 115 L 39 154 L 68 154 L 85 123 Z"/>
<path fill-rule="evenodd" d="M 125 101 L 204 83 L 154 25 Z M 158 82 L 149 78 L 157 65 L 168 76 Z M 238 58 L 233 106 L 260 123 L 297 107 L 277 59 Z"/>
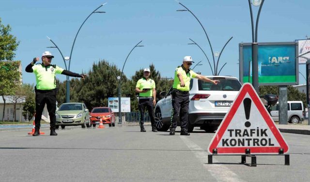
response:
<path fill-rule="evenodd" d="M 52 90 L 56 88 L 56 74 L 61 74 L 63 69 L 56 65 L 44 66 L 36 64 L 32 66 L 38 90 Z"/>

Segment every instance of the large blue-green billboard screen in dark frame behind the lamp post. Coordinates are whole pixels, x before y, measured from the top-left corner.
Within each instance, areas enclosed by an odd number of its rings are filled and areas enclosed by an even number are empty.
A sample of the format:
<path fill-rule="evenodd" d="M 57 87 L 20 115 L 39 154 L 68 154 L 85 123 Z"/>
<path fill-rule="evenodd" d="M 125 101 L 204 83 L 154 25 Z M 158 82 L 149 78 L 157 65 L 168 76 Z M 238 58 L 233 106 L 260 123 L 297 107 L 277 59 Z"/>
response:
<path fill-rule="evenodd" d="M 252 43 L 239 44 L 241 83 L 252 83 Z M 295 42 L 258 43 L 259 85 L 298 84 L 298 44 Z"/>

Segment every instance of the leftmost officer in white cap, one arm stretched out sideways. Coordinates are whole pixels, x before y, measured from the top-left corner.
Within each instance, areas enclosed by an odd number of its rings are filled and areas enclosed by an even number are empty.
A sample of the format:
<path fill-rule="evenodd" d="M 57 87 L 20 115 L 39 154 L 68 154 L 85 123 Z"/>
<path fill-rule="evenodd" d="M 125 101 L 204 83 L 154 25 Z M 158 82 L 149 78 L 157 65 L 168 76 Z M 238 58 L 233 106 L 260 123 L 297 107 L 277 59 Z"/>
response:
<path fill-rule="evenodd" d="M 84 74 L 73 73 L 68 70 L 64 70 L 59 66 L 51 65 L 51 61 L 54 56 L 45 51 L 42 54 L 42 63 L 35 64 L 39 61 L 39 58 L 33 58 L 33 61 L 26 67 L 26 72 L 34 72 L 36 78 L 35 86 L 35 130 L 33 136 L 40 135 L 40 121 L 42 112 L 47 104 L 47 111 L 50 118 L 50 135 L 57 135 L 56 128 L 56 74 L 63 74 L 72 77 L 83 78 Z"/>

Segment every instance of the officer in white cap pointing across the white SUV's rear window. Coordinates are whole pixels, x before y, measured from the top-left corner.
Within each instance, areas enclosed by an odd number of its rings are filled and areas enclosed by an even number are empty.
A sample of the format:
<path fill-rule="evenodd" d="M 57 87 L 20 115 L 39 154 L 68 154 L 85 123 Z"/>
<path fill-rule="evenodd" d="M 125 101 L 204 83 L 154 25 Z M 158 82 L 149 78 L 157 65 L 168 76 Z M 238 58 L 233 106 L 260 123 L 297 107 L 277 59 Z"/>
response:
<path fill-rule="evenodd" d="M 217 80 L 211 80 L 205 76 L 199 75 L 192 71 L 189 67 L 192 65 L 193 60 L 191 56 L 185 56 L 183 64 L 178 66 L 174 72 L 174 81 L 172 86 L 172 113 L 171 113 L 171 126 L 170 135 L 175 134 L 177 121 L 181 119 L 181 135 L 189 135 L 187 132 L 188 126 L 188 104 L 189 104 L 189 83 L 191 78 L 197 78 L 204 82 L 217 84 Z"/>

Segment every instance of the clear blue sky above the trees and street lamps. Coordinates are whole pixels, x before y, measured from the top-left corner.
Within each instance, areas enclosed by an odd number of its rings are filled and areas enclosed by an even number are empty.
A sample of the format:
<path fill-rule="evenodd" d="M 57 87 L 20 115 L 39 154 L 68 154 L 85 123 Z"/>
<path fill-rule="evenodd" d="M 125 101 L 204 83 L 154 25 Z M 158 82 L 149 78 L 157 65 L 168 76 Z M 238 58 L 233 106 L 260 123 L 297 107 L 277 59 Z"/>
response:
<path fill-rule="evenodd" d="M 214 51 L 223 51 L 219 67 L 221 75 L 239 78 L 239 47 L 251 42 L 251 24 L 248 0 L 179 0 L 202 22 Z M 136 48 L 128 58 L 124 74 L 130 78 L 136 70 L 154 64 L 162 77 L 173 77 L 176 66 L 186 55 L 202 61 L 194 71 L 212 75 L 202 51 L 190 43 L 197 42 L 210 61 L 212 53 L 206 36 L 189 12 L 175 0 L 1 0 L 0 17 L 10 24 L 12 34 L 20 41 L 15 60 L 21 60 L 23 69 L 33 57 L 41 57 L 49 50 L 55 55 L 52 63 L 64 68 L 61 55 L 47 39 L 49 36 L 69 56 L 74 37 L 84 19 L 98 6 L 108 2 L 84 24 L 72 54 L 70 70 L 88 72 L 94 62 L 106 59 L 122 69 L 129 51 L 140 41 L 144 47 Z M 310 35 L 307 0 L 265 0 L 259 20 L 258 42 L 289 42 Z M 254 17 L 258 8 L 253 7 Z M 196 62 L 196 63 L 197 63 Z M 68 64 L 68 63 L 67 63 Z M 306 66 L 299 71 L 306 75 Z M 306 83 L 299 75 L 300 83 Z M 58 75 L 65 80 L 64 75 Z M 35 83 L 31 73 L 23 71 L 24 83 Z"/>

